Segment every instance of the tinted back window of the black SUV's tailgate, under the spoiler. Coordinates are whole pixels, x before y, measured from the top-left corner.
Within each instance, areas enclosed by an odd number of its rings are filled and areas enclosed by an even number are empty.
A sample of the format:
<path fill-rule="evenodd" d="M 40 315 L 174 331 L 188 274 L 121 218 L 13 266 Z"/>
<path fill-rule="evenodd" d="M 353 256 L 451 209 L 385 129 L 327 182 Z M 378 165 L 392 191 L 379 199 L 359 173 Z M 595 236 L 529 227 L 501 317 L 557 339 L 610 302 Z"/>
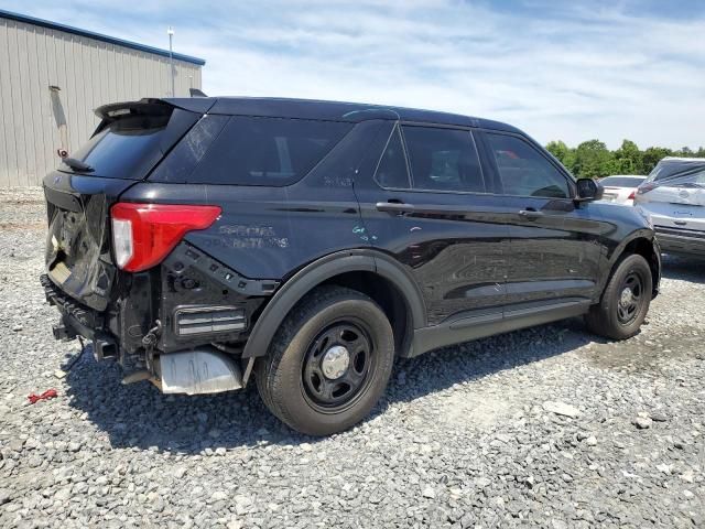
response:
<path fill-rule="evenodd" d="M 86 174 L 108 179 L 142 179 L 144 165 L 151 166 L 162 156 L 160 139 L 166 129 L 169 117 L 120 118 L 69 155 L 94 169 Z M 62 171 L 70 171 L 70 168 L 63 165 Z"/>

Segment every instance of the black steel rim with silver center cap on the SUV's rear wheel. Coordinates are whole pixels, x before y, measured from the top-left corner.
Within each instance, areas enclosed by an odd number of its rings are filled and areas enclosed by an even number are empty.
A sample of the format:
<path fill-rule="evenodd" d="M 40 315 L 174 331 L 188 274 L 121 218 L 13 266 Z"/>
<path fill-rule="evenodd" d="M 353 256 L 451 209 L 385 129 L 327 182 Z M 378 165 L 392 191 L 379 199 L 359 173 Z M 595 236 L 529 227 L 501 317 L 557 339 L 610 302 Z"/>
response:
<path fill-rule="evenodd" d="M 372 355 L 372 342 L 361 323 L 328 326 L 313 339 L 304 358 L 305 397 L 321 411 L 346 408 L 369 381 Z"/>

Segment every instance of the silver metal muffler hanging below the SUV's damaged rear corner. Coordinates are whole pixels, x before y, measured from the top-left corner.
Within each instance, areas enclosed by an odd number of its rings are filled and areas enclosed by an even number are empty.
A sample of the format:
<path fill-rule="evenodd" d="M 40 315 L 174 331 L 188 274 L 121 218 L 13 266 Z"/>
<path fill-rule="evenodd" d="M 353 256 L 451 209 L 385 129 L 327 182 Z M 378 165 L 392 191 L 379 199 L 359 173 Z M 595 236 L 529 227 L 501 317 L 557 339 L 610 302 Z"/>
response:
<path fill-rule="evenodd" d="M 242 373 L 236 358 L 212 346 L 160 355 L 154 359 L 163 393 L 219 393 L 242 388 Z"/>

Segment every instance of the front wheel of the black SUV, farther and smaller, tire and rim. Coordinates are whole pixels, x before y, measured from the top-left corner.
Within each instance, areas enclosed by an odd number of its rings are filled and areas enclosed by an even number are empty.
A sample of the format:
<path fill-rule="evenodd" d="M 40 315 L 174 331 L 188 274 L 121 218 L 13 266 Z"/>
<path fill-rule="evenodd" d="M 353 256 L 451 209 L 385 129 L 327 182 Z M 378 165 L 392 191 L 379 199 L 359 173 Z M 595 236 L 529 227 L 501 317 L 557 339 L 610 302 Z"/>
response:
<path fill-rule="evenodd" d="M 631 255 L 619 262 L 598 305 L 585 321 L 595 334 L 611 339 L 630 338 L 639 332 L 651 303 L 652 278 L 647 260 Z"/>

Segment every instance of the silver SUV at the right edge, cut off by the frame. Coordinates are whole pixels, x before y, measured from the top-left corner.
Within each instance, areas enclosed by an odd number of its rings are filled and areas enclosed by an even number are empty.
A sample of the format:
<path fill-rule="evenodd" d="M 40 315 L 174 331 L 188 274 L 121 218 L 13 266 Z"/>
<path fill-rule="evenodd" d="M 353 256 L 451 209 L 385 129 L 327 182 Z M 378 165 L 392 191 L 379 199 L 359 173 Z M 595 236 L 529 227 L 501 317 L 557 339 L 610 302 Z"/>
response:
<path fill-rule="evenodd" d="M 705 159 L 664 158 L 637 190 L 661 249 L 705 257 Z"/>

